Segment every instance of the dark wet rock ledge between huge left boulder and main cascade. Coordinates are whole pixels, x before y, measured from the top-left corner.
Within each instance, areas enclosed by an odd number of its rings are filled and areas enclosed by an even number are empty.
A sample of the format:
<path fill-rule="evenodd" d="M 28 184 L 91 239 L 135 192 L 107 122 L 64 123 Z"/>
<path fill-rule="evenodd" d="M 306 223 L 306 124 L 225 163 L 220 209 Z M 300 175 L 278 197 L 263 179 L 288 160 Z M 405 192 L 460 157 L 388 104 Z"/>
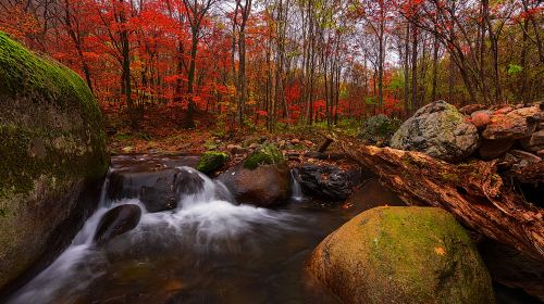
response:
<path fill-rule="evenodd" d="M 119 170 L 111 174 L 108 195 L 112 200 L 139 198 L 148 212 L 161 212 L 177 207 L 181 195 L 196 193 L 202 187 L 198 173 L 186 169 Z"/>

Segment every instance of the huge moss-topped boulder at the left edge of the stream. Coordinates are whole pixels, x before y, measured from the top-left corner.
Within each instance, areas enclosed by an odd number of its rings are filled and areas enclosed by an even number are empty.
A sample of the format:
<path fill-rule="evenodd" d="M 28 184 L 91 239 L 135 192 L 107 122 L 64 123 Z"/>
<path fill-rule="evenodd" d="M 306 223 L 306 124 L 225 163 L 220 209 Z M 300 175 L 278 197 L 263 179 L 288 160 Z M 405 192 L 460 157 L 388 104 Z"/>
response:
<path fill-rule="evenodd" d="M 0 33 L 0 290 L 73 238 L 108 164 L 85 83 Z"/>

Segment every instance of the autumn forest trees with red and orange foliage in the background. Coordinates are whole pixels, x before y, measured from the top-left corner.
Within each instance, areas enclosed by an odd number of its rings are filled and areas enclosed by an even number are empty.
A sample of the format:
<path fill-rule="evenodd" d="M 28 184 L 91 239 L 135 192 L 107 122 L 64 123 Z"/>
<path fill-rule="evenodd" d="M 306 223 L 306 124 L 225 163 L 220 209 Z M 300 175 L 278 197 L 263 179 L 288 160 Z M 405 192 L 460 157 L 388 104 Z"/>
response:
<path fill-rule="evenodd" d="M 79 73 L 137 129 L 406 117 L 542 99 L 536 0 L 7 0 L 0 30 Z"/>

